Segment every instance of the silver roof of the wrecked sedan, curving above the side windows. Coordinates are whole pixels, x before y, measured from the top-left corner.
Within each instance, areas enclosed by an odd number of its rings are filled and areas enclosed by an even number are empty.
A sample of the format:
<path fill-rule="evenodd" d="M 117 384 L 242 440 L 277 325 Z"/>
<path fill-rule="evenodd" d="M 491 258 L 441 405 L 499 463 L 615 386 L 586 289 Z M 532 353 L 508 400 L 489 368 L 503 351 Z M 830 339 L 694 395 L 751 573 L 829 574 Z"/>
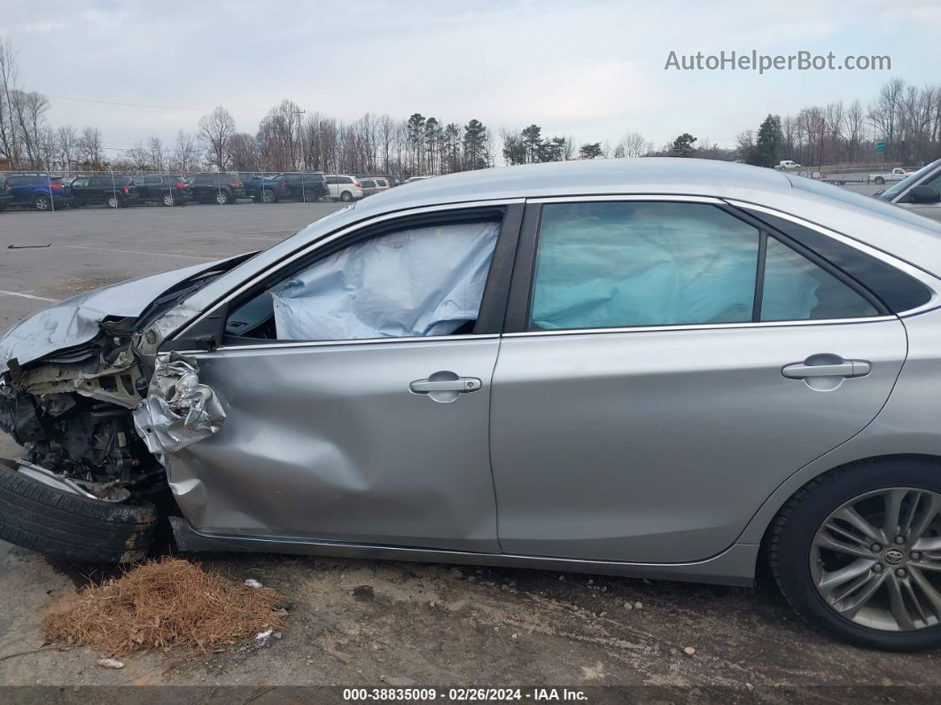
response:
<path fill-rule="evenodd" d="M 617 195 L 699 196 L 756 204 L 839 232 L 941 276 L 941 223 L 840 186 L 791 178 L 771 168 L 704 159 L 642 157 L 486 168 L 391 188 L 311 223 L 195 294 L 203 306 L 251 272 L 279 262 L 330 232 L 363 220 L 425 206 Z M 938 287 L 941 291 L 941 283 Z"/>

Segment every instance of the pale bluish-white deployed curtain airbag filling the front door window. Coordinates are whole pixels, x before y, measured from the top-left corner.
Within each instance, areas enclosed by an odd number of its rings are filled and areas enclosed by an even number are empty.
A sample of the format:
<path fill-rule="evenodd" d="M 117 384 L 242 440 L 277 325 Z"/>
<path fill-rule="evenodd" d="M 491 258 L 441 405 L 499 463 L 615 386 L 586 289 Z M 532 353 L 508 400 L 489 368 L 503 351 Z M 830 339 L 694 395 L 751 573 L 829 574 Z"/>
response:
<path fill-rule="evenodd" d="M 477 318 L 499 222 L 391 232 L 271 290 L 279 340 L 448 335 Z"/>

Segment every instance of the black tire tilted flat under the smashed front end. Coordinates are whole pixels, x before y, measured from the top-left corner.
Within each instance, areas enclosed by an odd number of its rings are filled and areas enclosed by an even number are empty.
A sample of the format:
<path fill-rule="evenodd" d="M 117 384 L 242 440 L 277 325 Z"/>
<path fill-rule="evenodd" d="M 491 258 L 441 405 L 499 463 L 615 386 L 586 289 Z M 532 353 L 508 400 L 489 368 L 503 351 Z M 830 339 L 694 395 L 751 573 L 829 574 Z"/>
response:
<path fill-rule="evenodd" d="M 152 505 L 100 502 L 0 468 L 0 538 L 88 563 L 132 563 L 151 546 Z"/>

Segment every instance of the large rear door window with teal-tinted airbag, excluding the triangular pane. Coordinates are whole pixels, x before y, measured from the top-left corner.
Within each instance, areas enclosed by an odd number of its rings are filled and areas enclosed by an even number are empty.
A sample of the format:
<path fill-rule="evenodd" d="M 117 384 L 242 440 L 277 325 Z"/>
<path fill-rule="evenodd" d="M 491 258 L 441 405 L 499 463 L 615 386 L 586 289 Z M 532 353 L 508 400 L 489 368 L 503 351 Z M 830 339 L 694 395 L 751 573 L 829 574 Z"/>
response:
<path fill-rule="evenodd" d="M 544 205 L 530 328 L 751 321 L 759 241 L 704 203 Z"/>

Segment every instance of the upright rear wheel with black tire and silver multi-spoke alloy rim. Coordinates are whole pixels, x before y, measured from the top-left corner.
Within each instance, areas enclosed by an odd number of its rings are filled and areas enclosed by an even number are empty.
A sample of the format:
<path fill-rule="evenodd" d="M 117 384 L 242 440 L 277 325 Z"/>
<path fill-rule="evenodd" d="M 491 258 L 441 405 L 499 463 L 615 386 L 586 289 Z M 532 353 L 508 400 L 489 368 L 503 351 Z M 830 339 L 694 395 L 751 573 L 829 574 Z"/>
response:
<path fill-rule="evenodd" d="M 941 646 L 941 468 L 851 463 L 801 489 L 768 539 L 774 580 L 807 621 L 870 649 Z"/>

